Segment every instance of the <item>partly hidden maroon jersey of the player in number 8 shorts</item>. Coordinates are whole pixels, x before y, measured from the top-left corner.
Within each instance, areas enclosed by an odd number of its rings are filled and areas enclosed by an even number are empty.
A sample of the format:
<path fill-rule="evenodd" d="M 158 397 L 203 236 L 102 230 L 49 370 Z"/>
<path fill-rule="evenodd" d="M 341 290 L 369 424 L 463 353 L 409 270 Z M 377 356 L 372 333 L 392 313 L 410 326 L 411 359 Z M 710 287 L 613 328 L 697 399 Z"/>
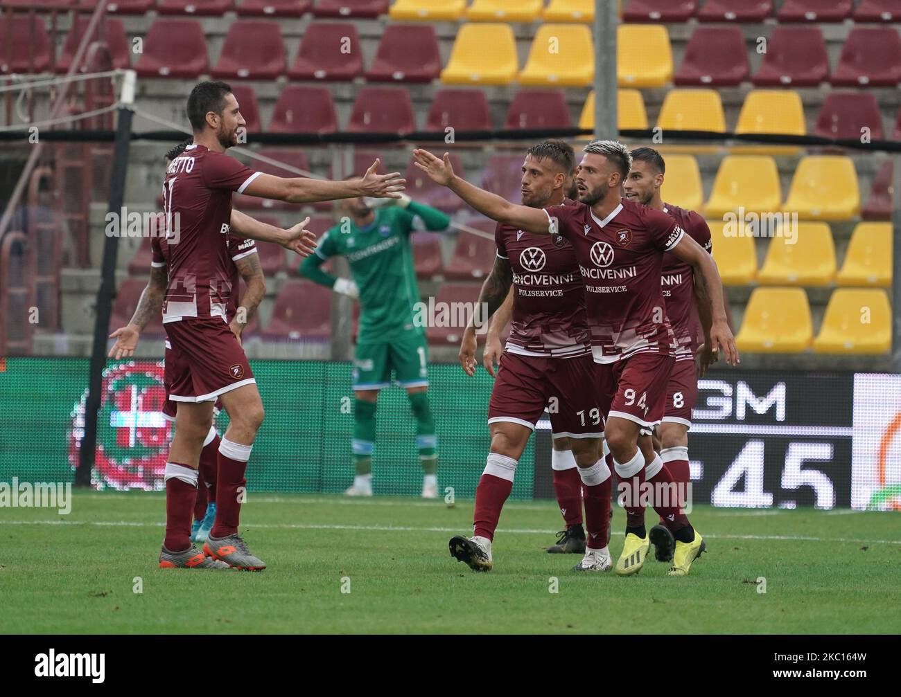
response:
<path fill-rule="evenodd" d="M 711 253 L 710 228 L 704 218 L 694 210 L 685 210 L 672 203 L 664 203 L 663 212 L 675 219 L 679 228 Z M 694 361 L 697 347 L 694 271 L 678 256 L 665 254 L 660 284 L 663 287 L 663 301 L 667 304 L 667 317 L 678 344 L 673 354 L 677 361 Z"/>

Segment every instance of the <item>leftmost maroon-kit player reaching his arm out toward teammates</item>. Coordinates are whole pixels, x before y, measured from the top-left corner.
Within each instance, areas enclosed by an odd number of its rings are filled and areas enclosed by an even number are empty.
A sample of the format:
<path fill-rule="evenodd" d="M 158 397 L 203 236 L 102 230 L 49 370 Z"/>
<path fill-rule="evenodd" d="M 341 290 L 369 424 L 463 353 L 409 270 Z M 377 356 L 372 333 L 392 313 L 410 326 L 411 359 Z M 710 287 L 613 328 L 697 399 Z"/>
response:
<path fill-rule="evenodd" d="M 225 155 L 237 144 L 237 131 L 245 122 L 231 87 L 223 82 L 196 85 L 187 100 L 187 115 L 194 143 L 172 160 L 163 183 L 169 243 L 163 326 L 178 358 L 169 396 L 179 405 L 166 465 L 167 523 L 160 564 L 205 566 L 191 545 L 190 529 L 200 452 L 219 398 L 229 426 L 219 445 L 215 523 L 202 554 L 232 567 L 259 570 L 266 565 L 238 535 L 247 484 L 244 471 L 263 421 L 263 405 L 240 333 L 225 318 L 232 295 L 226 246 L 232 192 L 292 203 L 396 198 L 404 180 L 398 173 L 376 174 L 378 161 L 361 179 L 342 182 L 282 178 L 241 165 Z M 308 238 L 312 245 L 304 225 L 292 230 L 300 228 L 296 238 Z"/>

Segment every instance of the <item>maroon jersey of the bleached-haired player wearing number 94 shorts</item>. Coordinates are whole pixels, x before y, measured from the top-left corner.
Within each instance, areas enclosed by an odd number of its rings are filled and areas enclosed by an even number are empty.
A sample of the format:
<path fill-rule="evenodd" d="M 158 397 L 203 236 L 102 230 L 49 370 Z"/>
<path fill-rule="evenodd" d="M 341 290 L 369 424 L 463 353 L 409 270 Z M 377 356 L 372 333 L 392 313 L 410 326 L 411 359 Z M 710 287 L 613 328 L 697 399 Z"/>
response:
<path fill-rule="evenodd" d="M 576 253 L 585 283 L 592 353 L 613 363 L 636 353 L 670 355 L 674 342 L 663 295 L 663 253 L 684 234 L 661 210 L 623 200 L 606 219 L 585 203 L 544 209 Z"/>

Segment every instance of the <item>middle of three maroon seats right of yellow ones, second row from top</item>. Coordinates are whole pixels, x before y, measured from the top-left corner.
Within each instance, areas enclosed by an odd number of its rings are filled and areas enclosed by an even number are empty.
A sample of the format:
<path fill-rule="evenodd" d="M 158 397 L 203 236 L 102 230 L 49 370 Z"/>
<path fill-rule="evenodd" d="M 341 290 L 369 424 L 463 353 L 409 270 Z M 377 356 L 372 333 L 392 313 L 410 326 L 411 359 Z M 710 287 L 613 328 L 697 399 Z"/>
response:
<path fill-rule="evenodd" d="M 816 87 L 828 79 L 823 31 L 819 27 L 776 27 L 751 82 L 760 87 Z"/>

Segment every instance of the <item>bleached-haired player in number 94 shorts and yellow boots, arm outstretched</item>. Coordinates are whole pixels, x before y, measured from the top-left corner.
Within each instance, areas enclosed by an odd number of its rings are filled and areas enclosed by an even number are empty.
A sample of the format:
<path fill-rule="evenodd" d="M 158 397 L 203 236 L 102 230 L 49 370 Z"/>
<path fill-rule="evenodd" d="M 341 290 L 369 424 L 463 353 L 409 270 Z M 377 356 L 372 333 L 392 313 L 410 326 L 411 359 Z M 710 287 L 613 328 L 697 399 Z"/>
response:
<path fill-rule="evenodd" d="M 672 252 L 689 264 L 705 284 L 713 316 L 711 350 L 722 348 L 726 361 L 733 364 L 738 353 L 713 260 L 667 214 L 623 201 L 622 186 L 632 158 L 622 143 L 589 143 L 576 175 L 579 203 L 544 210 L 517 206 L 466 182 L 454 174 L 447 154 L 441 159 L 416 149 L 414 156 L 416 165 L 432 181 L 448 186 L 488 218 L 525 232 L 558 233 L 573 246 L 585 283 L 592 352 L 599 363 L 599 397 L 613 395 L 604 424 L 605 440 L 621 481 L 620 499 L 627 519 L 616 571 L 623 576 L 637 573 L 650 545 L 643 525 L 647 491 L 643 485 L 649 483 L 654 491 L 673 488 L 660 456 L 643 447 L 650 439 L 643 439 L 639 447 L 640 433 L 650 434 L 663 417 L 669 372 L 675 362 L 671 348 L 675 335 L 660 289 L 663 254 Z M 680 510 L 678 500 L 654 499 L 651 503 L 676 539 L 669 575 L 686 576 L 703 551 L 704 541 Z M 640 507 L 641 525 L 635 518 Z"/>

